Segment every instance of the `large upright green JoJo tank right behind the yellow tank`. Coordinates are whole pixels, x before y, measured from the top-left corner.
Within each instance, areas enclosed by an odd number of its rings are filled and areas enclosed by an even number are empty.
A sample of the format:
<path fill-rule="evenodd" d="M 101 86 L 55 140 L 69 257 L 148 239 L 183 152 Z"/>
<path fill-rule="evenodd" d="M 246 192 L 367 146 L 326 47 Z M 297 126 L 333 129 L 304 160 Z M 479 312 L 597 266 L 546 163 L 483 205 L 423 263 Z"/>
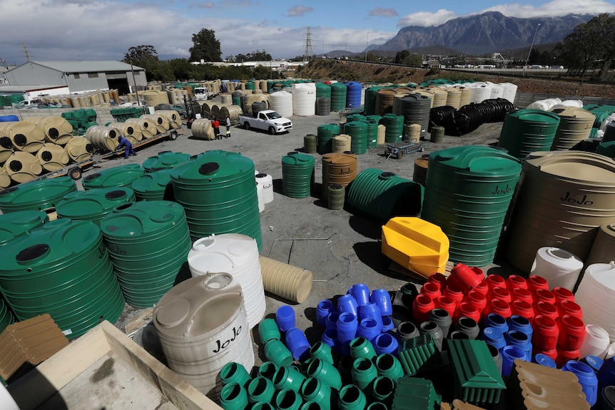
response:
<path fill-rule="evenodd" d="M 450 260 L 482 267 L 493 262 L 521 161 L 479 145 L 430 153 L 421 217 L 449 237 Z"/>

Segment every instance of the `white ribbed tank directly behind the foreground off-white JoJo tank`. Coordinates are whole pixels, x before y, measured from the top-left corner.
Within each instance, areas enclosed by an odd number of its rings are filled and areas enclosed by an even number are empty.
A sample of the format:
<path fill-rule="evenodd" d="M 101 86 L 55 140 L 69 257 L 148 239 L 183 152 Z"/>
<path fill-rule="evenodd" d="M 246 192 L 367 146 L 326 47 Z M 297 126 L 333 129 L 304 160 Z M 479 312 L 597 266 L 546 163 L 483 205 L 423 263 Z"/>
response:
<path fill-rule="evenodd" d="M 243 291 L 250 329 L 265 316 L 265 290 L 255 239 L 238 233 L 202 237 L 188 252 L 188 267 L 193 277 L 209 272 L 232 275 Z"/>

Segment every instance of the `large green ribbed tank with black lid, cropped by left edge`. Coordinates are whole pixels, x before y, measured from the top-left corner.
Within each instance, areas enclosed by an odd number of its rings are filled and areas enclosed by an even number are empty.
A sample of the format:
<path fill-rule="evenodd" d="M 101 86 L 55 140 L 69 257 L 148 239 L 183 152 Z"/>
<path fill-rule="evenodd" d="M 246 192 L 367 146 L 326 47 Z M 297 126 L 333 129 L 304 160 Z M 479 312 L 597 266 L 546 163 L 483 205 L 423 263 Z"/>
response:
<path fill-rule="evenodd" d="M 116 322 L 124 297 L 93 222 L 61 218 L 0 247 L 0 289 L 17 319 L 49 313 L 68 338 Z"/>

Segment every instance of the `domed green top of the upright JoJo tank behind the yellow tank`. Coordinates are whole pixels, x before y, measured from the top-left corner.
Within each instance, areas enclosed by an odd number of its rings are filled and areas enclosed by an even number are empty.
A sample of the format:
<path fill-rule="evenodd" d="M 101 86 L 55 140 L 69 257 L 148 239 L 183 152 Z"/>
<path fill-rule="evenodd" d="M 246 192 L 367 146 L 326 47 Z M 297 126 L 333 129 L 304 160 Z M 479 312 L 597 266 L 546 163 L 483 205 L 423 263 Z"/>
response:
<path fill-rule="evenodd" d="M 521 173 L 521 160 L 503 150 L 479 145 L 434 151 L 430 153 L 430 160 L 463 174 L 497 176 Z"/>

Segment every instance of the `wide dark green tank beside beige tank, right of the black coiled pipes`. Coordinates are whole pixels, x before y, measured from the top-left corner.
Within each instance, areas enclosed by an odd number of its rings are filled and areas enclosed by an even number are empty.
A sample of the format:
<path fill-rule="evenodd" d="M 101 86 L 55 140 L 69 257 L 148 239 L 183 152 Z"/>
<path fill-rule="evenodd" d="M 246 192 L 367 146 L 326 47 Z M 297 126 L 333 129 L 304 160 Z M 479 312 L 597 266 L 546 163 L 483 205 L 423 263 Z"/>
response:
<path fill-rule="evenodd" d="M 551 150 L 558 127 L 559 116 L 548 111 L 524 108 L 507 113 L 497 145 L 523 159 L 529 153 Z"/>

